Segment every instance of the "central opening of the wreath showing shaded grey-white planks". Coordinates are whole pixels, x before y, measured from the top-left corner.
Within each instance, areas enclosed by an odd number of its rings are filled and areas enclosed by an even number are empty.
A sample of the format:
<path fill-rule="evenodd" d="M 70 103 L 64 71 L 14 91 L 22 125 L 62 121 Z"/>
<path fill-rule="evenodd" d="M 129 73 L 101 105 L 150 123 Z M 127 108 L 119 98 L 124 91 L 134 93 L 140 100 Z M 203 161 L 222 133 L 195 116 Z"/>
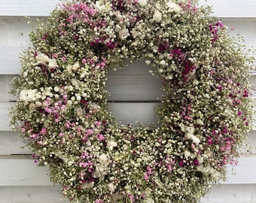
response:
<path fill-rule="evenodd" d="M 133 62 L 120 70 L 109 71 L 106 89 L 111 112 L 123 125 L 157 124 L 154 109 L 160 105 L 161 79 L 150 73 L 145 61 Z"/>

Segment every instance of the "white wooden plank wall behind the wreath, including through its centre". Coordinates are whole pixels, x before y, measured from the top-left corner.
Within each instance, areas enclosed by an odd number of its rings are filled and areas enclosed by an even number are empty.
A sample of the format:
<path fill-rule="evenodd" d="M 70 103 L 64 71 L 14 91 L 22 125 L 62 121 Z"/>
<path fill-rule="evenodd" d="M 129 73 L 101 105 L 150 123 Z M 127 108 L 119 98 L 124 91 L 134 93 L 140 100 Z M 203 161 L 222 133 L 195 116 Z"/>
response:
<path fill-rule="evenodd" d="M 0 1 L 0 203 L 68 202 L 58 194 L 59 186 L 53 186 L 47 168 L 38 168 L 30 159 L 29 149 L 8 125 L 8 108 L 16 98 L 8 95 L 11 80 L 20 71 L 19 53 L 28 45 L 27 33 L 33 29 L 24 16 L 45 17 L 58 0 L 1 0 Z M 247 47 L 256 47 L 255 0 L 200 0 L 201 5 L 213 5 L 215 15 L 230 27 L 230 35 L 245 37 Z M 231 32 L 231 28 L 234 30 Z M 139 67 L 139 68 L 138 68 Z M 136 63 L 109 74 L 108 90 L 113 114 L 117 120 L 134 123 L 156 121 L 154 106 L 161 95 L 160 80 L 152 77 L 151 67 Z M 251 75 L 256 84 L 256 75 Z M 126 103 L 125 103 L 126 102 Z M 256 146 L 256 131 L 248 140 Z M 236 173 L 236 175 L 233 175 Z M 229 168 L 227 182 L 212 186 L 208 197 L 201 203 L 252 203 L 256 202 L 256 150 L 244 153 L 239 166 Z"/>

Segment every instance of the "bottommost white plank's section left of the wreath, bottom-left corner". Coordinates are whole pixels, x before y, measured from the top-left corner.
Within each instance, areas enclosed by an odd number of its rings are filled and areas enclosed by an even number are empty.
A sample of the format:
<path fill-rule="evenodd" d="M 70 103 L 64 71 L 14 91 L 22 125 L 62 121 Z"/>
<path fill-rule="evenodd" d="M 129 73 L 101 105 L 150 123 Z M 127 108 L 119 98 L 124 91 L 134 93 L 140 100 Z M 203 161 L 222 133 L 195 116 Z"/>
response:
<path fill-rule="evenodd" d="M 60 186 L 0 186 L 0 203 L 68 203 Z"/>

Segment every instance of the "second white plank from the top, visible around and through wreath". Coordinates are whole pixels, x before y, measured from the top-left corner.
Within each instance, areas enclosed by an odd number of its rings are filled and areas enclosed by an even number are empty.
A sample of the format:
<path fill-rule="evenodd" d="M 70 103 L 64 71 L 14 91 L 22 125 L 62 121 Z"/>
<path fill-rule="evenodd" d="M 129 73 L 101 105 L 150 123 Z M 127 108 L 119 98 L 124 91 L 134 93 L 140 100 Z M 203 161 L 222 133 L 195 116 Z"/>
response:
<path fill-rule="evenodd" d="M 236 21 L 233 19 L 224 21 L 229 27 L 230 37 L 243 36 L 244 44 L 248 47 L 256 47 L 256 18 L 248 22 Z M 27 24 L 26 18 L 22 17 L 0 17 L 0 74 L 19 74 L 20 72 L 20 53 L 28 47 L 29 38 L 27 33 L 32 30 L 32 26 Z M 148 66 L 141 70 L 139 67 Z M 129 65 L 136 74 L 145 74 L 151 69 L 151 66 L 145 65 L 145 62 Z M 123 68 L 124 74 L 134 74 L 130 68 Z M 113 72 L 113 74 L 116 74 Z M 118 73 L 117 73 L 118 74 Z"/>

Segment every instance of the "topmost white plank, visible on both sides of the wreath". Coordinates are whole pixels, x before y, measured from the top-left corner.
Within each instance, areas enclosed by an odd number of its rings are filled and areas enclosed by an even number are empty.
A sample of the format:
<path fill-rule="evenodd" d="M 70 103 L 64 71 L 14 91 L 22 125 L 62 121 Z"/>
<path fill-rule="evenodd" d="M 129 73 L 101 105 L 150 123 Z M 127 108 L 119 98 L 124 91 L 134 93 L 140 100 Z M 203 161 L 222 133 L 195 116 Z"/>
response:
<path fill-rule="evenodd" d="M 59 4 L 59 0 L 2 0 L 0 16 L 47 16 Z M 200 5 L 211 5 L 219 17 L 255 17 L 254 0 L 200 0 Z M 227 9 L 228 8 L 228 9 Z"/>

